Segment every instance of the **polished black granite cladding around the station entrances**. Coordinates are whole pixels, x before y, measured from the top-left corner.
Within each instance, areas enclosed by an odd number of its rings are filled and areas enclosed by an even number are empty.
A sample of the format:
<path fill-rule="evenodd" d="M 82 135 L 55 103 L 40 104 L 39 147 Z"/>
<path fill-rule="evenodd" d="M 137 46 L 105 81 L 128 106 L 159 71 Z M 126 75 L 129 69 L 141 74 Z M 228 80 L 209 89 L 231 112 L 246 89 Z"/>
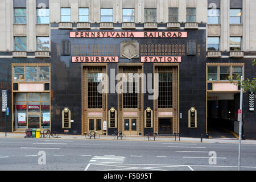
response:
<path fill-rule="evenodd" d="M 75 30 L 72 30 L 75 31 Z M 112 30 L 89 30 L 89 31 L 112 31 Z M 124 31 L 124 30 L 114 30 Z M 128 31 L 128 30 L 126 30 Z M 133 30 L 142 31 L 142 30 Z M 159 31 L 159 30 L 156 30 Z M 174 30 L 172 30 L 174 31 Z M 180 119 L 181 137 L 200 137 L 205 136 L 207 131 L 206 125 L 206 63 L 245 63 L 245 77 L 255 77 L 255 68 L 251 67 L 251 59 L 207 59 L 206 60 L 206 30 L 179 30 L 188 32 L 187 38 L 69 38 L 70 30 L 51 30 L 51 58 L 1 58 L 0 82 L 3 82 L 1 89 L 11 90 L 11 63 L 50 63 L 51 64 L 51 129 L 59 131 L 63 134 L 64 129 L 61 128 L 62 118 L 61 111 L 64 107 L 71 110 L 71 129 L 68 134 L 81 134 L 82 121 L 82 72 L 81 63 L 72 63 L 72 56 L 82 56 L 77 54 L 76 46 L 86 44 L 97 45 L 117 45 L 119 63 L 141 63 L 141 58 L 123 59 L 120 58 L 120 43 L 123 40 L 137 40 L 141 44 L 184 44 L 185 53 L 181 55 L 181 63 L 179 66 L 179 111 L 182 113 Z M 66 41 L 65 50 L 63 50 L 63 41 Z M 188 42 L 192 41 L 192 46 Z M 70 44 L 69 44 L 70 42 Z M 195 44 L 193 44 L 195 43 Z M 61 46 L 61 44 L 63 44 Z M 195 45 L 195 46 L 193 46 Z M 75 48 L 74 48 L 75 46 Z M 195 55 L 189 53 L 192 49 Z M 141 49 L 140 49 L 141 50 Z M 2 53 L 8 55 L 7 53 Z M 90 55 L 87 55 L 90 56 Z M 95 56 L 95 55 L 91 55 Z M 102 56 L 102 55 L 98 55 Z M 141 52 L 140 52 L 141 56 Z M 155 55 L 153 52 L 151 56 Z M 179 56 L 179 55 L 168 55 Z M 172 63 L 170 63 L 171 65 Z M 117 63 L 108 63 L 108 75 L 110 78 L 110 69 L 115 69 L 118 73 Z M 144 63 L 143 73 L 153 73 L 154 64 Z M 117 84 L 117 81 L 115 81 Z M 143 94 L 143 113 L 147 107 L 154 108 L 154 101 L 148 100 L 148 93 Z M 11 108 L 11 92 L 9 91 L 9 108 Z M 1 102 L 2 106 L 2 102 Z M 117 106 L 117 93 L 108 94 L 108 107 L 115 109 Z M 197 128 L 188 127 L 188 110 L 195 107 L 197 110 Z M 244 114 L 245 121 L 244 134 L 246 138 L 255 138 L 256 121 L 255 112 L 249 112 L 248 109 L 248 93 L 244 94 Z M 118 112 L 118 110 L 117 110 Z M 180 115 L 179 113 L 179 115 Z M 8 131 L 11 132 L 11 114 L 8 117 Z M 5 131 L 5 115 L 0 113 L 0 131 Z M 144 121 L 144 119 L 143 119 Z M 14 127 L 15 128 L 15 127 Z M 65 129 L 66 130 L 66 129 Z M 115 129 L 108 129 L 108 134 L 113 133 Z M 144 129 L 144 133 L 152 132 L 152 129 Z"/>

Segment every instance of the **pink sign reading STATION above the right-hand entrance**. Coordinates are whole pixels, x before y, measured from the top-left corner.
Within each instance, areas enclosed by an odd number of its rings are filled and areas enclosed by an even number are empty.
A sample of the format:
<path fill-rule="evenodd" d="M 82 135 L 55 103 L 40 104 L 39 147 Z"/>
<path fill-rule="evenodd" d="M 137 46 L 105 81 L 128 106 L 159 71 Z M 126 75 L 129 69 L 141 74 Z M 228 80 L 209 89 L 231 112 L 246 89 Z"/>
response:
<path fill-rule="evenodd" d="M 180 56 L 141 56 L 141 62 L 143 63 L 179 63 L 181 62 Z"/>

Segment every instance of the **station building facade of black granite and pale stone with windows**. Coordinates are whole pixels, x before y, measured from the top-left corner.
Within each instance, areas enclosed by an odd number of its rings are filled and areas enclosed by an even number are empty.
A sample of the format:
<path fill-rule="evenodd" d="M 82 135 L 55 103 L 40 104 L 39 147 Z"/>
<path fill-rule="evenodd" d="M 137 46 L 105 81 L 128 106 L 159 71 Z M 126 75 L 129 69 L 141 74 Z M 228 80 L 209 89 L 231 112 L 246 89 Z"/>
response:
<path fill-rule="evenodd" d="M 237 133 L 240 88 L 228 77 L 255 77 L 255 7 L 253 0 L 2 0 L 7 131 Z M 256 138 L 250 94 L 243 135 Z"/>

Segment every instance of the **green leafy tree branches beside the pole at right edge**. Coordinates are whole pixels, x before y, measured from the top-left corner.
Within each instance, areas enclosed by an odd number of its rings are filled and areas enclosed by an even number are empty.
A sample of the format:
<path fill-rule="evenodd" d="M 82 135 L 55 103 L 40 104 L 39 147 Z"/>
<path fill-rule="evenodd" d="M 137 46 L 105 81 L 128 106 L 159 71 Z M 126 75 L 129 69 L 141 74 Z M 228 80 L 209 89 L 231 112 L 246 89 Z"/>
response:
<path fill-rule="evenodd" d="M 254 66 L 256 64 L 256 61 L 253 60 L 252 65 Z M 256 73 L 255 73 L 256 75 Z M 241 89 L 243 89 L 243 92 L 247 92 L 250 91 L 251 93 L 253 93 L 255 91 L 256 88 L 256 78 L 252 78 L 251 80 L 249 78 L 244 78 L 243 81 L 241 81 L 241 75 L 236 74 L 236 80 L 237 82 L 234 82 L 233 78 L 231 76 L 229 76 L 229 81 L 235 85 L 241 86 Z M 256 95 L 254 94 L 254 97 L 256 97 Z"/>

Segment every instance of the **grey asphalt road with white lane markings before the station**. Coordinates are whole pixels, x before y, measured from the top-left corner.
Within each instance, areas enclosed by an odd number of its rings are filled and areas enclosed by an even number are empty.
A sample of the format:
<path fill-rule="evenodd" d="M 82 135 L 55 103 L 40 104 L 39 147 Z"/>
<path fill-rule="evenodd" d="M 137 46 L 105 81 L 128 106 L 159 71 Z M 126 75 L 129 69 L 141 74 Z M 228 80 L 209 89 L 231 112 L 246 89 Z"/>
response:
<path fill-rule="evenodd" d="M 256 171 L 256 145 L 242 144 L 241 156 L 241 169 Z M 238 144 L 0 138 L 0 170 L 223 171 L 237 164 Z"/>

